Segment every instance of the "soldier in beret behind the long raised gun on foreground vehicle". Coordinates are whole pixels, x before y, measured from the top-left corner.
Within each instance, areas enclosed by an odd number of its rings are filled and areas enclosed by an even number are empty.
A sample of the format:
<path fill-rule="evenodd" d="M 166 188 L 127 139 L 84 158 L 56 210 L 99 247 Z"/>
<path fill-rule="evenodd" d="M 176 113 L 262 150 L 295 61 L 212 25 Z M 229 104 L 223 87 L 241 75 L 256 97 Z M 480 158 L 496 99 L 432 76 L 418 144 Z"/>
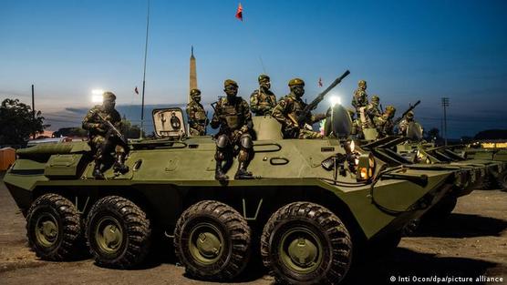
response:
<path fill-rule="evenodd" d="M 284 138 L 322 138 L 321 133 L 308 129 L 305 126 L 299 126 L 296 121 L 299 113 L 306 107 L 301 97 L 305 94 L 305 81 L 300 78 L 294 78 L 289 81 L 291 93 L 280 99 L 278 105 L 273 109 L 273 117 L 282 124 L 282 133 Z M 305 125 L 311 127 L 312 124 L 324 119 L 325 114 L 313 116 L 308 114 Z"/>

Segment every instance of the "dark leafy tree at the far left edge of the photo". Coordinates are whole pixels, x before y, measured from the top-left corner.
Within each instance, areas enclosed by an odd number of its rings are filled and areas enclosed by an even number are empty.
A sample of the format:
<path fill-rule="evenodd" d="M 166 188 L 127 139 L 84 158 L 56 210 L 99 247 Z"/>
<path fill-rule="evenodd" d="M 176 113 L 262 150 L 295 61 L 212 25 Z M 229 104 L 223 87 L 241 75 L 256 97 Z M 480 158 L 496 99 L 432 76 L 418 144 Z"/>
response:
<path fill-rule="evenodd" d="M 19 99 L 6 98 L 0 106 L 0 145 L 25 145 L 34 132 L 43 132 L 44 117 L 36 111 L 33 118 L 32 108 Z"/>

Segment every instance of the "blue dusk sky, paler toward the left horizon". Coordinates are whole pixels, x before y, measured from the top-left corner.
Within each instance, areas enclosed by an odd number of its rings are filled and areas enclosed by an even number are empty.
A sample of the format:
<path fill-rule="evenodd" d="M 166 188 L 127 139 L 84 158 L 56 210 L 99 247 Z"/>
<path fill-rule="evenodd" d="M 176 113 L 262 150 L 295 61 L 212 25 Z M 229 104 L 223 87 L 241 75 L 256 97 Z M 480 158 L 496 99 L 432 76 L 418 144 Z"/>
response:
<path fill-rule="evenodd" d="M 150 1 L 147 104 L 185 102 L 194 46 L 205 103 L 222 95 L 225 78 L 249 97 L 264 72 L 278 98 L 303 78 L 310 101 L 324 89 L 319 77 L 326 87 L 349 69 L 333 91 L 347 106 L 365 79 L 369 97 L 398 115 L 420 99 L 426 129 L 440 128 L 441 97 L 450 97 L 450 137 L 507 128 L 506 1 L 247 0 L 243 22 L 238 3 Z M 146 0 L 2 0 L 0 100 L 30 104 L 34 84 L 53 130 L 80 125 L 66 108 L 93 106 L 92 89 L 140 104 L 146 11 Z"/>

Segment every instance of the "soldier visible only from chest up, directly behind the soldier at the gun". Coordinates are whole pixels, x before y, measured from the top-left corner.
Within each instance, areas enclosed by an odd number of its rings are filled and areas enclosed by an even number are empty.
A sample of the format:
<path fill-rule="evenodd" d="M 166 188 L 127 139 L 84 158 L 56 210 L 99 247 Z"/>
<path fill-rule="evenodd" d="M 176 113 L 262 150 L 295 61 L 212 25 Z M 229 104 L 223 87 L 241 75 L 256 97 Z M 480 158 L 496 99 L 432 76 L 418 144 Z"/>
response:
<path fill-rule="evenodd" d="M 259 89 L 253 91 L 250 96 L 250 107 L 255 116 L 271 115 L 273 108 L 276 106 L 276 97 L 271 92 L 271 82 L 269 76 L 260 75 Z"/>

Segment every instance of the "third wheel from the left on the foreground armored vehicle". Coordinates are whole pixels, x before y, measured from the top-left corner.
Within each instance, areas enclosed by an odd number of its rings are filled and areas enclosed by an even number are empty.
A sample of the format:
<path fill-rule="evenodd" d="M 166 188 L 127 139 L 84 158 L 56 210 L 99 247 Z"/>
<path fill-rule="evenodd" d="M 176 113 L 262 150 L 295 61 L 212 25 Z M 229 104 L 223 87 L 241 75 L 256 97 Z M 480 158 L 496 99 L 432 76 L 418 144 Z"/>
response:
<path fill-rule="evenodd" d="M 235 209 L 205 200 L 182 214 L 174 229 L 174 249 L 185 270 L 200 279 L 239 275 L 250 258 L 251 230 Z"/>

